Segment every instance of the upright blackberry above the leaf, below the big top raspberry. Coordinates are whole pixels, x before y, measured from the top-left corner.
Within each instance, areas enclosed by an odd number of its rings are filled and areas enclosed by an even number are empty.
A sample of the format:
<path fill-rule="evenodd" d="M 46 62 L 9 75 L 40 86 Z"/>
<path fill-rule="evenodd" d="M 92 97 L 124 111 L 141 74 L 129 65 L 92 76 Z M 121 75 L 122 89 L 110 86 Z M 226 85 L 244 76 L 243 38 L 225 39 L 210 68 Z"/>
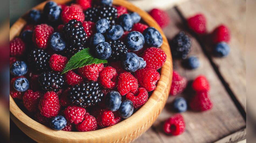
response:
<path fill-rule="evenodd" d="M 75 19 L 72 19 L 65 24 L 63 33 L 68 43 L 74 46 L 83 46 L 88 39 L 84 27 L 82 26 L 82 22 Z"/>

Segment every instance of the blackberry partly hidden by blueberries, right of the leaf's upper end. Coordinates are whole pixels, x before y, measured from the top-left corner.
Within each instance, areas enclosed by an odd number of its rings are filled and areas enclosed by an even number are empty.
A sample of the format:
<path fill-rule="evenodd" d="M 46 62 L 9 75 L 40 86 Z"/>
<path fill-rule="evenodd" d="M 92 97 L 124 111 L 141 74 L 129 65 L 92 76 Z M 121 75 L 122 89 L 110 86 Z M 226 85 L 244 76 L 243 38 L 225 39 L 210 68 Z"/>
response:
<path fill-rule="evenodd" d="M 118 61 L 128 52 L 125 44 L 121 40 L 111 40 L 109 41 L 110 47 L 112 49 L 109 60 Z"/>

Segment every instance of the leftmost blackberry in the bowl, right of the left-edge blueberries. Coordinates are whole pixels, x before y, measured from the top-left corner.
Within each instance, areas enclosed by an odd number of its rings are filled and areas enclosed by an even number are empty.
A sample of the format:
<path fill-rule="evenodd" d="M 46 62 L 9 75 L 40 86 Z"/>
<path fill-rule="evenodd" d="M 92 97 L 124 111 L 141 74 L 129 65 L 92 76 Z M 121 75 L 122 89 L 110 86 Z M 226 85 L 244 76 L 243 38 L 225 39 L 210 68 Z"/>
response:
<path fill-rule="evenodd" d="M 42 72 L 49 69 L 50 55 L 42 49 L 34 49 L 29 55 L 29 65 L 34 71 Z"/>

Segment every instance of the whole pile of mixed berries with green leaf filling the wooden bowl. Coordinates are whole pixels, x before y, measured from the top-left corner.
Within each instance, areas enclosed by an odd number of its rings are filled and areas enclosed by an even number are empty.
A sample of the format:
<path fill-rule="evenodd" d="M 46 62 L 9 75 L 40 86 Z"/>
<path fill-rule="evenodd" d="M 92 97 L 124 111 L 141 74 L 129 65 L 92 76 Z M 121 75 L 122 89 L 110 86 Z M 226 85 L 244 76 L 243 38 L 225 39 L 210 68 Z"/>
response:
<path fill-rule="evenodd" d="M 167 56 L 160 32 L 138 13 L 112 1 L 76 2 L 28 13 L 10 42 L 10 94 L 54 130 L 92 131 L 143 106 Z"/>

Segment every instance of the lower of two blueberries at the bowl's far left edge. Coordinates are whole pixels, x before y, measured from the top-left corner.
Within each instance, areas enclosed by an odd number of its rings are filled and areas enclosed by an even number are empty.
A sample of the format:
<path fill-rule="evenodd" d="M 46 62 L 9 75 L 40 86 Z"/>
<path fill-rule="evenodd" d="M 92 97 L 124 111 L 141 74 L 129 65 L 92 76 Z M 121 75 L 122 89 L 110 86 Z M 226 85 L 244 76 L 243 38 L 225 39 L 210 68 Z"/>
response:
<path fill-rule="evenodd" d="M 13 88 L 16 91 L 24 92 L 29 89 L 29 81 L 25 77 L 20 77 L 14 81 Z"/>

